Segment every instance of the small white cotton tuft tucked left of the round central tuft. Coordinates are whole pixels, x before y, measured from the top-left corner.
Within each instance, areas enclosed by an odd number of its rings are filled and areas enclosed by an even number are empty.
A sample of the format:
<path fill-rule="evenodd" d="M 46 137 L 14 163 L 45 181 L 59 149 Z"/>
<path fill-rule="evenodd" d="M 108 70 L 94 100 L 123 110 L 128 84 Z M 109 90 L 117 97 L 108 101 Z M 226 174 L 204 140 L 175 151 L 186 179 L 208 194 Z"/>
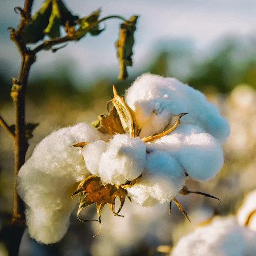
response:
<path fill-rule="evenodd" d="M 96 141 L 89 143 L 82 149 L 82 155 L 88 171 L 96 176 L 99 176 L 98 166 L 101 155 L 106 151 L 107 143 L 105 141 Z"/>

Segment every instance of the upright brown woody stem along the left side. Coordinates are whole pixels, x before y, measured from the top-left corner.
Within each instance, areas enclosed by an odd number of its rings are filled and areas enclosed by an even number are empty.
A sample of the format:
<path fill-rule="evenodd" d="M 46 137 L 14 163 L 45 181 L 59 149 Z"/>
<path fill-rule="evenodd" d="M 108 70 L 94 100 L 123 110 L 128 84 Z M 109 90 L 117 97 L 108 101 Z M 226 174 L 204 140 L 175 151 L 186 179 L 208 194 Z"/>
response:
<path fill-rule="evenodd" d="M 25 156 L 28 148 L 26 139 L 25 123 L 25 93 L 27 88 L 28 74 L 31 65 L 35 61 L 35 53 L 30 51 L 23 42 L 22 33 L 31 18 L 32 0 L 25 0 L 23 10 L 17 7 L 21 19 L 17 30 L 10 28 L 10 39 L 16 44 L 22 61 L 18 79 L 13 79 L 11 97 L 15 109 L 15 133 L 11 131 L 7 123 L 0 118 L 1 126 L 5 128 L 14 137 L 14 196 L 13 196 L 13 218 L 9 224 L 3 226 L 0 232 L 0 240 L 5 242 L 9 255 L 18 255 L 20 242 L 25 229 L 25 207 L 22 199 L 17 192 L 17 176 L 20 167 L 25 162 Z"/>

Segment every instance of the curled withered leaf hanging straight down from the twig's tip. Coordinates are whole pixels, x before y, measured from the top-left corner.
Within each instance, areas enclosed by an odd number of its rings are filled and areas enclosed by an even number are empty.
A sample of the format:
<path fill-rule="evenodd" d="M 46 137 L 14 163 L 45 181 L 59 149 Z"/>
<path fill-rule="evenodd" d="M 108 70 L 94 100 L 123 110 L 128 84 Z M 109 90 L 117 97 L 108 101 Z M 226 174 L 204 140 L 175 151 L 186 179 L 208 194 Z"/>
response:
<path fill-rule="evenodd" d="M 122 23 L 119 29 L 119 39 L 115 43 L 117 56 L 119 59 L 119 76 L 118 79 L 127 78 L 127 66 L 133 65 L 131 56 L 133 55 L 134 32 L 138 16 L 133 15 L 129 20 Z"/>

